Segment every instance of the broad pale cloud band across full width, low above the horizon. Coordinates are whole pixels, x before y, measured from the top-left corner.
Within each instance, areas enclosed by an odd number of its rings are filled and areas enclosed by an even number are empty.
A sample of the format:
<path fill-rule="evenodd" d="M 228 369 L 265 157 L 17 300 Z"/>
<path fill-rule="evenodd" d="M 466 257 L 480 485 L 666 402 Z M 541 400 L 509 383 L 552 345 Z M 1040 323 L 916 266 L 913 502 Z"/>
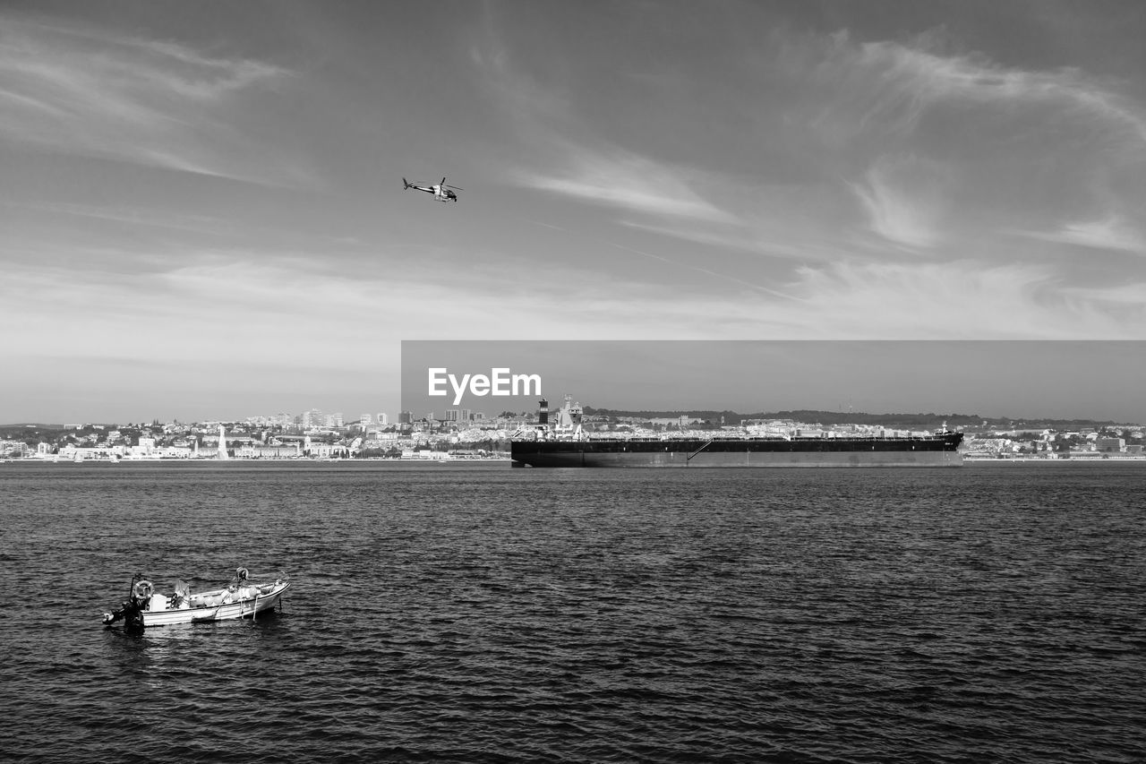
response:
<path fill-rule="evenodd" d="M 723 289 L 692 290 L 682 303 L 680 290 L 601 279 L 578 263 L 545 270 L 547 283 L 562 284 L 555 301 L 551 290 L 507 281 L 507 268 L 488 252 L 477 258 L 485 268 L 444 267 L 448 259 L 424 252 L 374 270 L 347 270 L 306 251 L 270 259 L 168 250 L 157 267 L 126 271 L 107 267 L 111 254 L 83 255 L 56 267 L 9 264 L 0 302 L 11 330 L 0 334 L 0 356 L 24 359 L 14 368 L 53 369 L 60 391 L 46 412 L 70 411 L 69 393 L 77 392 L 70 380 L 87 380 L 99 367 L 104 400 L 85 402 L 74 414 L 85 418 L 128 399 L 120 407 L 132 416 L 142 415 L 132 406 L 165 412 L 172 400 L 180 402 L 176 412 L 195 403 L 219 415 L 221 402 L 240 390 L 282 388 L 280 400 L 303 402 L 319 390 L 333 395 L 331 385 L 375 396 L 397 385 L 402 340 L 1146 340 L 1146 283 L 1062 289 L 1042 265 L 841 262 L 769 281 L 796 299 L 762 293 L 751 275 L 713 273 Z M 315 358 L 335 359 L 336 371 L 305 364 Z M 141 374 L 141 364 L 150 372 Z M 9 400 L 42 391 L 34 379 L 5 385 Z M 265 404 L 243 405 L 236 415 Z"/>

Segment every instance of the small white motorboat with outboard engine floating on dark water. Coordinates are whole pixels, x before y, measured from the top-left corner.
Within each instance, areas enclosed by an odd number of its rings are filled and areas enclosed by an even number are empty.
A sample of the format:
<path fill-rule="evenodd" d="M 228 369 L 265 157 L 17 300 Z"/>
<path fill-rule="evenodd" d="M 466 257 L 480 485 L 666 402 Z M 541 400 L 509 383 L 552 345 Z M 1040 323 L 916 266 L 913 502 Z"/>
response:
<path fill-rule="evenodd" d="M 124 619 L 127 627 L 168 626 L 176 623 L 201 623 L 254 618 L 282 601 L 283 592 L 290 588 L 284 577 L 265 583 L 250 579 L 246 568 L 235 570 L 235 578 L 225 588 L 215 588 L 193 594 L 187 584 L 175 582 L 171 597 L 160 594 L 151 582 L 135 574 L 132 578 L 131 595 L 118 610 L 103 614 L 108 626 Z"/>

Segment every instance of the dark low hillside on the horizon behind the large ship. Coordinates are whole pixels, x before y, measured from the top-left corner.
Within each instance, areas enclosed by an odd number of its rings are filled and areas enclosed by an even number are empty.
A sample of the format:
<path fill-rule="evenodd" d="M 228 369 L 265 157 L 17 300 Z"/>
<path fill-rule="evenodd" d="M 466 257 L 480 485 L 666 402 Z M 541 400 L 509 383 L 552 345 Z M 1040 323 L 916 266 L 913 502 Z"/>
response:
<path fill-rule="evenodd" d="M 690 416 L 694 419 L 702 419 L 713 423 L 719 423 L 723 418 L 725 424 L 739 424 L 740 420 L 745 419 L 792 419 L 798 422 L 808 423 L 880 424 L 884 427 L 894 427 L 896 429 L 916 430 L 935 429 L 941 427 L 943 422 L 947 422 L 947 426 L 951 429 L 975 429 L 984 427 L 983 422 L 987 422 L 986 427 L 995 430 L 1051 429 L 1060 431 L 1127 423 L 1081 419 L 1000 419 L 981 416 L 979 414 L 936 414 L 932 412 L 926 414 L 868 414 L 864 412 L 815 411 L 807 408 L 798 411 L 754 412 L 749 414 L 740 414 L 735 411 L 626 411 L 619 408 L 594 408 L 592 406 L 584 406 L 584 413 L 592 416 L 633 416 L 639 419 L 676 419 L 678 416 Z"/>

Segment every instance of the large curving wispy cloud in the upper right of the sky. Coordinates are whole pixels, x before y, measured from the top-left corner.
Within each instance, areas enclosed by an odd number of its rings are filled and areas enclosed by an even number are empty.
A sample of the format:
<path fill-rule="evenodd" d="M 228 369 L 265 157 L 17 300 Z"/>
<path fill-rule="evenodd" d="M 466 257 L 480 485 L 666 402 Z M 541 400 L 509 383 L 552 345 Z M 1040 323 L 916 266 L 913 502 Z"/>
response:
<path fill-rule="evenodd" d="M 1146 201 L 1146 109 L 1125 84 L 941 53 L 936 36 L 786 45 L 802 55 L 785 76 L 804 86 L 791 120 L 810 126 L 795 140 L 823 147 L 810 161 L 845 179 L 862 224 L 885 242 L 992 262 L 1038 256 L 1017 250 L 1017 234 L 1146 251 L 1125 213 Z M 839 217 L 825 229 L 849 223 Z M 886 257 L 869 240 L 854 242 L 857 255 Z"/>

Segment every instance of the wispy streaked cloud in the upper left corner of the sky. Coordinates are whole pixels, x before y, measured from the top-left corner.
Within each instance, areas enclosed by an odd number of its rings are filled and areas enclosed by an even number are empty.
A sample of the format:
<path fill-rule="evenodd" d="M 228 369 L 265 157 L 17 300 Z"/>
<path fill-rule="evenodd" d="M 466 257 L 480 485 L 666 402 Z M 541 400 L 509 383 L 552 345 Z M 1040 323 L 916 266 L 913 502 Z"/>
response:
<path fill-rule="evenodd" d="M 21 146 L 242 180 L 250 147 L 227 127 L 237 96 L 289 72 L 173 42 L 7 17 L 0 24 L 0 139 Z"/>

